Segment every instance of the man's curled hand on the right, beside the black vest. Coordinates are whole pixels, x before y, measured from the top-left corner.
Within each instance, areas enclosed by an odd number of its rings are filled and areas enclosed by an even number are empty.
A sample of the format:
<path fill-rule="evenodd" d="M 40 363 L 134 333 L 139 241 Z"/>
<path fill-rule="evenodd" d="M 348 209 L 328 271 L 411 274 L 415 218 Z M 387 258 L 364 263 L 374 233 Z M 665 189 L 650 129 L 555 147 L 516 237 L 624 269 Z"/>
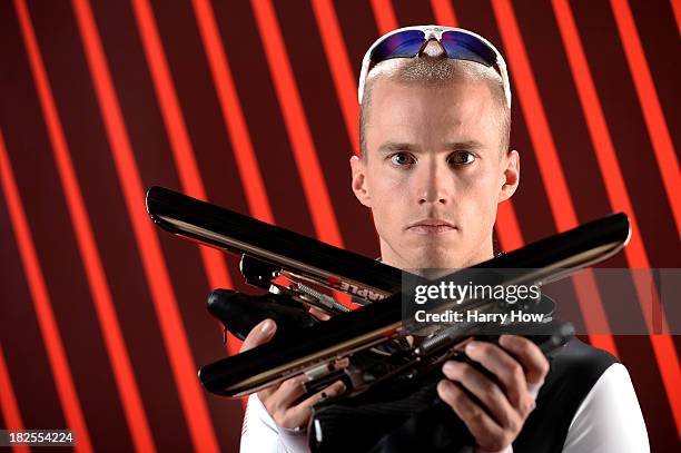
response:
<path fill-rule="evenodd" d="M 504 450 L 517 437 L 549 373 L 549 361 L 527 338 L 502 335 L 499 343 L 503 348 L 471 342 L 465 349 L 470 358 L 496 376 L 499 384 L 470 364 L 455 361 L 444 364 L 448 381 L 437 384 L 440 397 L 466 424 L 477 445 L 490 452 Z M 484 408 L 452 381 L 475 395 Z"/>

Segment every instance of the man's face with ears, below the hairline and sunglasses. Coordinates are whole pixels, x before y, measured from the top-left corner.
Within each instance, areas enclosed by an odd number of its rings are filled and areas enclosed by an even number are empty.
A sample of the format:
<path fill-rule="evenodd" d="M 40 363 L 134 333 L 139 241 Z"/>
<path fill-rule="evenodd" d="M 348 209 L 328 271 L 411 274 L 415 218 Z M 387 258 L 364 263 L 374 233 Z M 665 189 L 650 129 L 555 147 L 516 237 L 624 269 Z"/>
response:
<path fill-rule="evenodd" d="M 492 257 L 496 206 L 519 179 L 517 152 L 500 150 L 499 115 L 483 81 L 375 81 L 367 156 L 351 165 L 385 263 L 457 268 Z"/>

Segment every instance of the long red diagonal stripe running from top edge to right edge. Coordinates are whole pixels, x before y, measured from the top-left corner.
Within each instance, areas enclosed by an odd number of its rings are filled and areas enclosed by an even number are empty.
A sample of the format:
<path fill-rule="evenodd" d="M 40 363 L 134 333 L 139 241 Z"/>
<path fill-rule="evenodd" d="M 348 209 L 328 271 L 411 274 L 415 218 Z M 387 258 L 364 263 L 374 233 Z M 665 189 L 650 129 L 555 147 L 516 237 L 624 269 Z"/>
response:
<path fill-rule="evenodd" d="M 629 8 L 629 2 L 626 0 L 611 0 L 610 4 L 618 24 L 629 70 L 633 77 L 648 135 L 650 136 L 658 161 L 658 168 L 662 176 L 662 184 L 674 214 L 677 232 L 681 234 L 681 196 L 679 196 L 681 194 L 681 169 L 679 168 L 679 160 L 677 160 L 664 114 L 662 114 L 658 91 L 648 67 L 648 60 L 641 46 L 641 39 L 639 38 L 639 31 Z"/>

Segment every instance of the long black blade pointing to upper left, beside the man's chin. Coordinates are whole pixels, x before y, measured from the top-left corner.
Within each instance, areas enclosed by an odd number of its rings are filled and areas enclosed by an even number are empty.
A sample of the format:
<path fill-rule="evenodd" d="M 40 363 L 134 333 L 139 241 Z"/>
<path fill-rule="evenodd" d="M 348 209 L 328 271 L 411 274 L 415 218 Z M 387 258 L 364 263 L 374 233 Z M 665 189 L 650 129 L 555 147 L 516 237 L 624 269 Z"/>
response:
<path fill-rule="evenodd" d="M 383 296 L 399 290 L 399 269 L 174 190 L 151 187 L 147 211 L 167 232 L 245 253 L 328 286 L 345 282 Z"/>

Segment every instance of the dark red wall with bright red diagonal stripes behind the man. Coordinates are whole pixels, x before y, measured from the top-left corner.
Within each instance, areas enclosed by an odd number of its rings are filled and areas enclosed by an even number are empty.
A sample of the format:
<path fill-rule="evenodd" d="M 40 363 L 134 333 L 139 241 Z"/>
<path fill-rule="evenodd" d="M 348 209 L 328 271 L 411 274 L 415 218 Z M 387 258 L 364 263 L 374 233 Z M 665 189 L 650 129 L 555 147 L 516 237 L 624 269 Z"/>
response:
<path fill-rule="evenodd" d="M 159 234 L 145 188 L 376 256 L 347 160 L 361 58 L 399 26 L 506 56 L 523 180 L 502 248 L 624 210 L 632 242 L 606 266 L 681 267 L 680 3 L 0 1 L 1 426 L 68 426 L 83 452 L 237 450 L 243 405 L 196 380 L 225 354 L 204 297 L 244 289 L 235 259 Z M 574 292 L 586 327 L 651 323 L 592 274 Z M 679 337 L 586 339 L 629 367 L 652 451 L 677 445 Z"/>

